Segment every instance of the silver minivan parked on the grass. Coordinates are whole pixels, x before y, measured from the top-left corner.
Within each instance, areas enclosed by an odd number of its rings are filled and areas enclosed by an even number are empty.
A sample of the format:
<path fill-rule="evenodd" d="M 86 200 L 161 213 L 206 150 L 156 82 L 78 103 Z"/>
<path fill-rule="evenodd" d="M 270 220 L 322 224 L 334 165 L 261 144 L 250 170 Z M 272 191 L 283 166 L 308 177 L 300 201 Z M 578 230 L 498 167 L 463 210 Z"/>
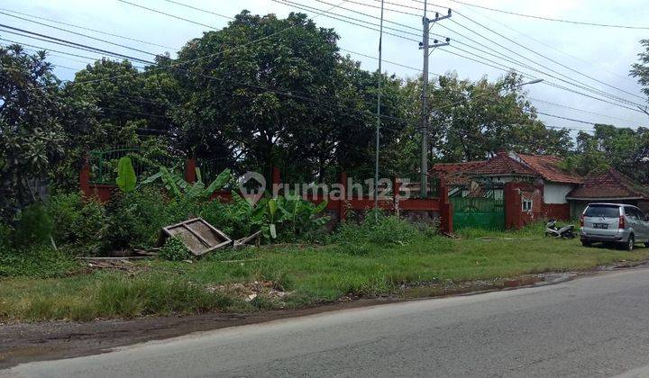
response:
<path fill-rule="evenodd" d="M 635 206 L 621 203 L 589 203 L 581 214 L 581 244 L 616 243 L 632 251 L 635 243 L 649 247 L 649 217 Z"/>

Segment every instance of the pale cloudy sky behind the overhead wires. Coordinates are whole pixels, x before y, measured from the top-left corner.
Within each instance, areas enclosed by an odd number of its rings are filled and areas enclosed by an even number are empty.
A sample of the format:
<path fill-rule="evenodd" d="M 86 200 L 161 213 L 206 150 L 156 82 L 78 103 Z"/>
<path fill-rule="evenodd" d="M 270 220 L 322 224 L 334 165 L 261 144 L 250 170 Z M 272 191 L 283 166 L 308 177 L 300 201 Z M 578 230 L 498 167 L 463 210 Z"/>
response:
<path fill-rule="evenodd" d="M 253 14 L 277 14 L 279 17 L 286 17 L 290 12 L 306 13 L 314 19 L 318 26 L 334 28 L 341 37 L 338 44 L 343 49 L 342 52 L 344 54 L 349 53 L 352 58 L 361 61 L 361 67 L 368 70 L 378 68 L 376 58 L 367 58 L 365 56 L 378 56 L 379 31 L 334 20 L 325 14 L 318 14 L 316 11 L 300 10 L 296 6 L 302 4 L 358 18 L 370 23 L 378 23 L 376 19 L 362 14 L 355 14 L 352 11 L 375 17 L 379 16 L 380 11 L 376 8 L 376 6 L 380 5 L 379 0 L 290 0 L 294 4 L 279 4 L 273 0 L 175 1 L 191 4 L 197 8 L 225 16 L 233 16 L 243 9 Z M 583 88 L 566 84 L 562 80 L 571 83 L 580 81 L 581 84 L 576 84 L 595 87 L 608 95 L 616 95 L 633 103 L 647 103 L 646 96 L 641 92 L 641 86 L 636 83 L 635 78 L 628 76 L 628 72 L 631 65 L 637 61 L 637 54 L 642 51 L 639 41 L 649 39 L 649 29 L 638 30 L 557 23 L 480 9 L 454 0 L 433 1 L 434 4 L 430 4 L 428 8 L 429 18 L 434 18 L 434 12 L 445 14 L 449 8 L 452 9 L 453 13 L 451 19 L 436 23 L 431 29 L 433 33 L 451 38 L 451 47 L 435 49 L 431 53 L 429 69 L 431 72 L 435 74 L 454 72 L 460 78 L 469 78 L 471 80 L 480 79 L 484 76 L 487 76 L 489 80 L 496 80 L 504 75 L 502 70 L 449 52 L 469 56 L 466 52 L 459 50 L 465 49 L 478 54 L 480 58 L 489 58 L 498 61 L 500 65 L 505 67 L 514 67 L 528 74 L 544 78 L 543 83 L 525 86 L 530 102 L 535 105 L 539 112 L 573 120 L 615 124 L 619 127 L 636 128 L 649 125 L 649 117 L 643 112 L 636 112 L 549 85 L 554 83 L 569 87 L 573 91 L 594 95 Z M 59 28 L 76 31 L 82 35 L 71 34 L 67 31 L 60 31 L 16 19 L 6 14 L 0 14 L 0 23 L 23 30 L 39 32 L 51 37 L 73 40 L 101 49 L 150 59 L 151 56 L 144 53 L 123 49 L 87 37 L 110 40 L 153 53 L 169 52 L 171 56 L 174 56 L 176 50 L 181 48 L 187 40 L 200 37 L 204 31 L 211 30 L 208 26 L 220 29 L 227 26 L 229 22 L 225 17 L 189 9 L 179 4 L 173 4 L 172 1 L 128 0 L 128 2 L 174 14 L 196 23 L 203 23 L 206 26 L 189 23 L 163 14 L 156 14 L 133 6 L 133 4 L 125 4 L 119 0 L 5 0 L 0 5 L 0 12 L 14 11 L 29 14 L 30 16 L 50 18 L 62 23 L 80 25 L 98 31 L 109 31 L 121 36 L 146 40 L 174 49 L 151 46 L 133 40 L 123 40 L 60 24 L 56 25 Z M 646 6 L 646 0 L 620 0 L 615 2 L 610 0 L 545 0 L 543 2 L 466 0 L 466 3 L 480 4 L 520 14 L 534 14 L 541 17 L 649 28 L 649 6 Z M 334 8 L 336 5 L 338 7 Z M 422 52 L 418 49 L 416 40 L 420 39 L 421 15 L 423 12 L 416 8 L 422 6 L 420 0 L 386 0 L 385 26 L 412 32 L 416 35 L 399 32 L 399 34 L 413 39 L 407 40 L 387 33 L 384 34 L 383 70 L 385 72 L 401 77 L 421 75 Z M 395 10 L 412 14 L 402 14 L 394 12 Z M 29 16 L 20 16 L 30 19 Z M 50 23 L 43 20 L 35 21 Z M 484 27 L 480 26 L 479 23 Z M 385 31 L 394 32 L 388 29 Z M 32 40 L 3 31 L 0 31 L 0 39 L 4 39 L 0 40 L 0 44 L 3 45 L 10 43 L 7 40 L 13 40 L 32 44 L 39 48 L 58 49 L 88 58 L 101 58 L 101 55 L 93 52 L 61 47 L 50 42 Z M 494 52 L 494 50 L 497 52 Z M 500 55 L 501 58 L 489 56 L 489 53 Z M 510 60 L 516 60 L 516 62 L 506 62 L 502 59 L 503 56 Z M 72 58 L 51 53 L 50 61 L 57 66 L 55 72 L 59 77 L 72 79 L 75 70 L 85 67 L 89 60 L 87 58 Z M 389 62 L 416 69 L 401 67 Z M 555 72 L 552 72 L 551 69 Z M 434 79 L 434 76 L 431 76 L 431 79 Z M 626 106 L 635 109 L 635 105 Z M 546 125 L 552 127 L 567 127 L 580 130 L 592 129 L 592 125 L 583 122 L 563 120 L 549 115 L 539 115 L 539 118 Z M 577 131 L 572 130 L 571 132 L 574 136 Z"/>

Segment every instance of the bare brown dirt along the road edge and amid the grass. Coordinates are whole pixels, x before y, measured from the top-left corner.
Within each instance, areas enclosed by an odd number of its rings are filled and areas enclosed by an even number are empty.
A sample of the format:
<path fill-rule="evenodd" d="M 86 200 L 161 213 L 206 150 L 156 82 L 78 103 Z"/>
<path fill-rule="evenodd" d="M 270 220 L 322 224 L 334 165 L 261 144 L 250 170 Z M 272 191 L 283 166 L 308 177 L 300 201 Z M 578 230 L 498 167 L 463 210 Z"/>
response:
<path fill-rule="evenodd" d="M 270 320 L 288 319 L 325 311 L 353 309 L 383 303 L 402 302 L 415 298 L 430 298 L 458 294 L 509 290 L 541 284 L 555 284 L 573 277 L 594 275 L 602 271 L 647 267 L 647 262 L 622 262 L 615 266 L 600 266 L 580 273 L 547 273 L 521 275 L 493 280 L 452 281 L 402 285 L 398 293 L 380 298 L 344 296 L 335 303 L 299 310 L 276 310 L 245 314 L 206 313 L 186 317 L 149 317 L 136 320 L 96 320 L 87 323 L 48 321 L 41 323 L 0 323 L 0 369 L 25 362 L 96 355 L 114 347 L 133 345 L 150 340 L 174 338 L 192 332 Z M 253 301 L 257 298 L 281 300 L 288 293 L 272 282 L 225 284 L 207 290 L 234 293 Z M 252 297 L 251 297 L 252 296 Z"/>

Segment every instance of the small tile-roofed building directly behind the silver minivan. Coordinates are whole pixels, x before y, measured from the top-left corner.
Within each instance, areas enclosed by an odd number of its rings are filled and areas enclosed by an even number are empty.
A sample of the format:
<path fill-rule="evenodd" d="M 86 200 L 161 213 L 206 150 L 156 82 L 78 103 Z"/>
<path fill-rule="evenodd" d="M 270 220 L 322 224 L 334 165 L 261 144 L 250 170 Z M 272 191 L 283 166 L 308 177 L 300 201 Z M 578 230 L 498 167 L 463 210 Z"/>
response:
<path fill-rule="evenodd" d="M 617 202 L 638 206 L 649 212 L 649 188 L 635 183 L 614 168 L 584 177 L 579 187 L 566 194 L 571 214 L 577 217 L 590 202 Z"/>

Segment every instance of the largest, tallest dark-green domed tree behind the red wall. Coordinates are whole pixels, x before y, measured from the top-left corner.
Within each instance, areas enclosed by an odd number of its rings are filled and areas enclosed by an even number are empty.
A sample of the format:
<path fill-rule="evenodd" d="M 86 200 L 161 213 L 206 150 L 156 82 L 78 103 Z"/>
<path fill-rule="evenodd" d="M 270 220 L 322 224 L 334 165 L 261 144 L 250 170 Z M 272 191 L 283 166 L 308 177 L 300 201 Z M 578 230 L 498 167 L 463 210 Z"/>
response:
<path fill-rule="evenodd" d="M 319 179 L 331 169 L 370 166 L 379 77 L 387 140 L 399 127 L 400 81 L 341 57 L 337 40 L 305 14 L 242 12 L 223 30 L 189 41 L 174 64 L 185 100 L 175 113 L 182 143 L 197 157 L 298 164 Z"/>

